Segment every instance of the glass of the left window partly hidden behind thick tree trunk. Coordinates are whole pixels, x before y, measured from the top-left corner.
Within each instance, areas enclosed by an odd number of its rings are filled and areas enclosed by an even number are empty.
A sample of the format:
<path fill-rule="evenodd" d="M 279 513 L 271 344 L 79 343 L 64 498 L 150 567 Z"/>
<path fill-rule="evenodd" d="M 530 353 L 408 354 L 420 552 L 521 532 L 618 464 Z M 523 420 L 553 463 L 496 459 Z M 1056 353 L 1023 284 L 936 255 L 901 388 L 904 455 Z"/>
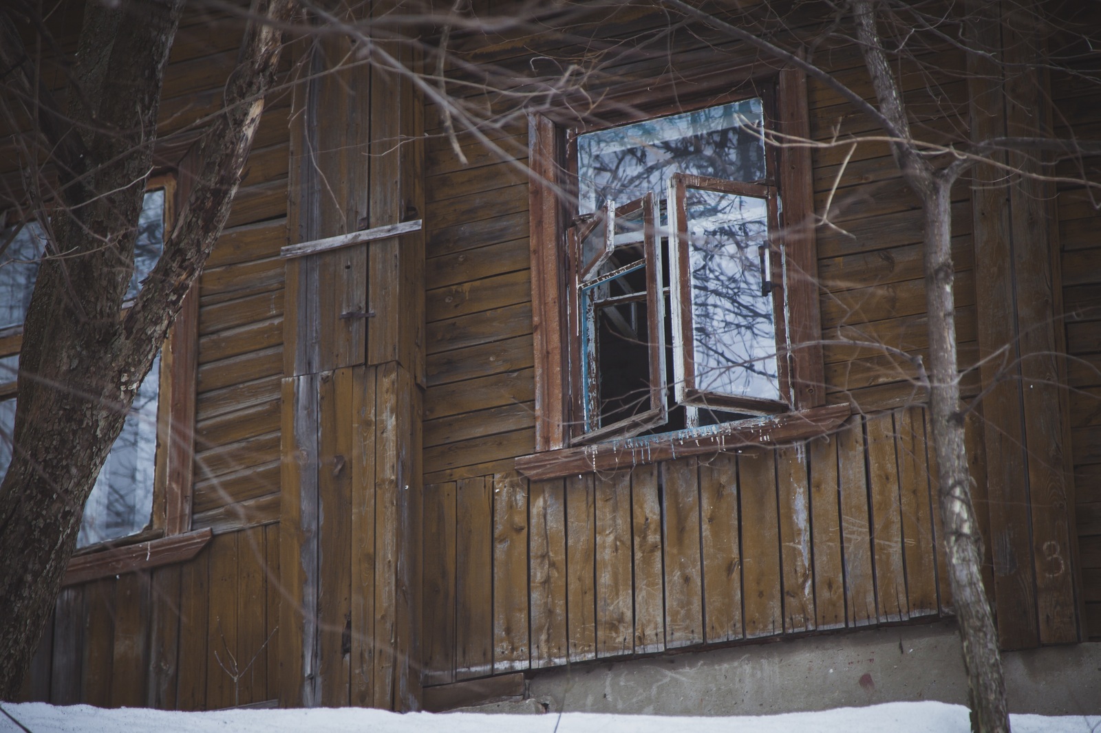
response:
<path fill-rule="evenodd" d="M 134 247 L 134 271 L 126 298 L 131 300 L 149 276 L 164 242 L 165 217 L 170 216 L 171 190 L 165 180 L 145 194 Z M 10 241 L 9 241 L 10 240 Z M 0 256 L 0 479 L 12 458 L 12 430 L 15 417 L 15 385 L 22 324 L 30 306 L 39 262 L 45 254 L 46 238 L 34 221 L 13 226 L 3 232 L 9 245 Z M 186 320 L 186 319 L 185 319 Z M 178 324 L 178 328 L 194 325 Z M 164 517 L 154 516 L 157 492 L 157 461 L 166 429 L 161 418 L 160 396 L 173 375 L 162 374 L 160 354 L 134 396 L 122 431 L 111 448 L 85 505 L 77 547 L 117 540 L 149 533 L 161 534 Z M 167 379 L 165 379 L 167 378 Z M 190 379 L 184 375 L 184 379 Z M 186 530 L 186 527 L 183 527 Z"/>

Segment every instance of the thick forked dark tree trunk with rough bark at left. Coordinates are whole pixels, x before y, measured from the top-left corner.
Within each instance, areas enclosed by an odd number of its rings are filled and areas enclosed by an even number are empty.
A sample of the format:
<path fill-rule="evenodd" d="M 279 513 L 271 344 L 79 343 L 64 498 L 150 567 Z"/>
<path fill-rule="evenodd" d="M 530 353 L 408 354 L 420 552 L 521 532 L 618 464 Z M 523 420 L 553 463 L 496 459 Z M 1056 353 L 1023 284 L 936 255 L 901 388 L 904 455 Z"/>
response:
<path fill-rule="evenodd" d="M 47 255 L 24 322 L 14 450 L 0 484 L 0 699 L 19 691 L 99 469 L 229 215 L 293 2 L 253 3 L 225 108 L 195 143 L 190 193 L 124 315 L 183 0 L 88 2 L 64 109 L 36 84 L 14 11 L 0 9 L 4 103 L 25 110 L 58 179 Z M 41 222 L 45 214 L 39 211 Z"/>

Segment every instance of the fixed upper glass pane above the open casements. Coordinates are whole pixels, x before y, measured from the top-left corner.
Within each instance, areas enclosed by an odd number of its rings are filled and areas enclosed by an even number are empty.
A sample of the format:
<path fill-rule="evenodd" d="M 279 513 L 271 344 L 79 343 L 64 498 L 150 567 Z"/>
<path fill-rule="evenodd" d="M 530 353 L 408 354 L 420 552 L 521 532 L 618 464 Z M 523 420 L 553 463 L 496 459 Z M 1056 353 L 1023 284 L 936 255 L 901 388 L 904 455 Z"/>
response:
<path fill-rule="evenodd" d="M 764 141 L 757 132 L 762 110 L 760 99 L 746 99 L 578 135 L 578 212 L 647 192 L 662 199 L 665 179 L 676 172 L 728 180 L 765 178 Z"/>

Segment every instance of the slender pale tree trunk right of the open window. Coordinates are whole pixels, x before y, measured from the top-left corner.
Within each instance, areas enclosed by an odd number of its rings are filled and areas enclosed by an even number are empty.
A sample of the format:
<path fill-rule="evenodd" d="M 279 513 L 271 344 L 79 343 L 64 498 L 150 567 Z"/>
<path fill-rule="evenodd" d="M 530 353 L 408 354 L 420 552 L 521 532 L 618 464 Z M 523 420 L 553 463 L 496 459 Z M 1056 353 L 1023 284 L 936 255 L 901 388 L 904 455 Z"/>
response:
<path fill-rule="evenodd" d="M 971 473 L 963 441 L 959 366 L 956 351 L 955 269 L 951 247 L 951 187 L 970 165 L 956 158 L 944 167 L 923 157 L 913 145 L 906 110 L 887 64 L 871 0 L 852 3 L 857 40 L 872 87 L 894 138 L 892 153 L 903 177 L 922 201 L 925 220 L 925 293 L 929 329 L 929 413 L 937 485 L 945 528 L 948 578 L 959 620 L 963 665 L 968 675 L 971 727 L 1010 730 L 1005 681 L 998 632 L 982 586 L 982 537 L 971 503 Z"/>

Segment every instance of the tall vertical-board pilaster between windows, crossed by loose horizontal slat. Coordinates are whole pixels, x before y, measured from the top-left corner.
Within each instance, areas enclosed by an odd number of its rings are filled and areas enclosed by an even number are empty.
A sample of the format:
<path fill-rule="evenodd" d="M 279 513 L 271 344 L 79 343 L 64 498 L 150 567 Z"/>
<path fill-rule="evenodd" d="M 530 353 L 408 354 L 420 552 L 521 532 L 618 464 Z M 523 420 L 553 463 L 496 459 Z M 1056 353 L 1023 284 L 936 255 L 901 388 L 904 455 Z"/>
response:
<path fill-rule="evenodd" d="M 393 3 L 360 3 L 349 22 Z M 386 53 L 413 68 L 408 43 Z M 292 243 L 423 208 L 412 81 L 307 36 L 291 129 Z M 419 705 L 423 243 L 390 238 L 286 262 L 284 705 Z"/>

